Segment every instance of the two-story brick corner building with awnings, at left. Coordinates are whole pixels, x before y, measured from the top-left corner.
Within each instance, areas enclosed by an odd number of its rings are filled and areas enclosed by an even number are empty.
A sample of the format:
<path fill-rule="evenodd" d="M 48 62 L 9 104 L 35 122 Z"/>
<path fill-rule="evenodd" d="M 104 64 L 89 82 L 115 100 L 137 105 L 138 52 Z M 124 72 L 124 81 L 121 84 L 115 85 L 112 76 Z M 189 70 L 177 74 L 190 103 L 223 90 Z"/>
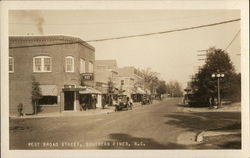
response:
<path fill-rule="evenodd" d="M 34 112 L 32 77 L 40 84 L 42 112 L 80 110 L 80 104 L 91 102 L 91 98 L 84 95 L 99 93 L 91 89 L 94 65 L 94 47 L 80 38 L 10 36 L 10 115 L 18 113 L 19 103 L 24 105 L 24 113 Z"/>

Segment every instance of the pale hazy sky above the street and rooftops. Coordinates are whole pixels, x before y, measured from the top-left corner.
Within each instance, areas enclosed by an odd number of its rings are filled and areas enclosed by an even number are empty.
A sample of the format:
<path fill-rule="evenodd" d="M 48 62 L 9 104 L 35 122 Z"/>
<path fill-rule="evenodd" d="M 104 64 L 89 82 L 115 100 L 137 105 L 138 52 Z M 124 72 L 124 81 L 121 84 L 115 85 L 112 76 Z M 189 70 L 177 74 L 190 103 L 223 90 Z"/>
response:
<path fill-rule="evenodd" d="M 12 10 L 9 35 L 69 35 L 84 41 L 193 27 L 240 18 L 239 10 Z M 166 82 L 190 81 L 204 58 L 199 50 L 225 49 L 240 21 L 195 30 L 89 42 L 97 60 L 115 59 L 118 67 L 151 68 Z M 240 72 L 240 34 L 227 49 Z"/>

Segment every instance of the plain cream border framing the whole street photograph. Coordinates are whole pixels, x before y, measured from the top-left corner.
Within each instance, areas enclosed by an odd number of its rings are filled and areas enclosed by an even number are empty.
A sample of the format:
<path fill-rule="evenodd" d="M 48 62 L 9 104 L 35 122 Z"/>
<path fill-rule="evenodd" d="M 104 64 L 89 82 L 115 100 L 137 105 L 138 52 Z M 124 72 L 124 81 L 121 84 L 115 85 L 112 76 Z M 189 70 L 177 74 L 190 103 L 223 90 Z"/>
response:
<path fill-rule="evenodd" d="M 2 157 L 249 157 L 249 2 L 236 1 L 10 1 L 1 2 Z M 241 9 L 242 150 L 9 150 L 8 10 L 11 9 Z M 98 151 L 98 152 L 97 152 Z"/>

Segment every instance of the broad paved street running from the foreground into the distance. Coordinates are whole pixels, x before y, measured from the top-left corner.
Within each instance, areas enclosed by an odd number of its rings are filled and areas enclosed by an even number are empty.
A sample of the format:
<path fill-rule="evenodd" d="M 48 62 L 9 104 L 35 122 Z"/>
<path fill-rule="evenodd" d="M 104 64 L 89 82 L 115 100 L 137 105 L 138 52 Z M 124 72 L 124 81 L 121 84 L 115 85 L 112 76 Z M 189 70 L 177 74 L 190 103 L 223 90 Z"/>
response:
<path fill-rule="evenodd" d="M 230 126 L 239 113 L 186 113 L 180 98 L 95 116 L 10 121 L 11 149 L 184 149 L 178 136 Z M 212 114 L 212 115 L 211 115 Z M 211 117 L 212 116 L 212 117 Z M 222 116 L 222 117 L 221 117 Z M 223 122 L 223 123 L 222 123 Z"/>

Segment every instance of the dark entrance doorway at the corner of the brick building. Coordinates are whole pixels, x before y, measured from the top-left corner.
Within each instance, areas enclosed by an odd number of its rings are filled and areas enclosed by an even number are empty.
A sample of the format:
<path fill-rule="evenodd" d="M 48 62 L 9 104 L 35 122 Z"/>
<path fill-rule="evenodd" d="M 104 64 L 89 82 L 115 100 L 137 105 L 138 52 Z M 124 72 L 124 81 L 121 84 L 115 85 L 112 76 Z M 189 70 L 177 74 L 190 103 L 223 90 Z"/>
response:
<path fill-rule="evenodd" d="M 75 92 L 64 92 L 64 110 L 74 110 Z"/>

